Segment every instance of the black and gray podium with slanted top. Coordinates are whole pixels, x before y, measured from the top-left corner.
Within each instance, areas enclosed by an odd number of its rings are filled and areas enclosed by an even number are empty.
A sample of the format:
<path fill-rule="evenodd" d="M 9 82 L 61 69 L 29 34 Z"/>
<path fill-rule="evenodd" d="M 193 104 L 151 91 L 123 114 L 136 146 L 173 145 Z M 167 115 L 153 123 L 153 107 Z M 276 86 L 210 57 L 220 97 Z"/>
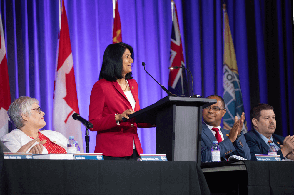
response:
<path fill-rule="evenodd" d="M 201 163 L 202 108 L 216 99 L 166 96 L 133 114 L 124 122 L 156 124 L 156 154 L 168 161 Z"/>

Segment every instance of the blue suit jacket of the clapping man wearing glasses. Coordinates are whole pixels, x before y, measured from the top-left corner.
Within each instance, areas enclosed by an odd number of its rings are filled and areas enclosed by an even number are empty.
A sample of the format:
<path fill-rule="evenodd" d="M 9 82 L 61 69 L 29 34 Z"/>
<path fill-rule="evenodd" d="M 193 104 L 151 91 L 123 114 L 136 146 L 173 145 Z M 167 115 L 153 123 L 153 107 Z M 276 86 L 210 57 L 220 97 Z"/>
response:
<path fill-rule="evenodd" d="M 220 131 L 223 133 L 224 139 L 222 142 L 218 143 L 220 145 L 220 157 L 225 158 L 225 155 L 238 155 L 250 160 L 250 149 L 246 144 L 244 135 L 241 135 L 232 143 L 226 136 L 226 134 L 229 134 L 230 131 L 223 128 L 220 128 Z M 216 141 L 216 137 L 213 135 L 208 126 L 203 123 L 201 135 L 201 162 L 211 161 L 211 147 L 213 145 L 213 141 Z"/>

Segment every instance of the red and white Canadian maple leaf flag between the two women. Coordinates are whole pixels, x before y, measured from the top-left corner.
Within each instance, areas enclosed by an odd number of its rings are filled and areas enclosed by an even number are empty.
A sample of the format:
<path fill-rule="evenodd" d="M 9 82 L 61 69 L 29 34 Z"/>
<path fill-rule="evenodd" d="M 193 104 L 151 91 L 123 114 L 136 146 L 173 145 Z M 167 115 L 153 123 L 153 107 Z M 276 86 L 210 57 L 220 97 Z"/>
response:
<path fill-rule="evenodd" d="M 72 114 L 79 113 L 74 61 L 69 39 L 64 1 L 62 1 L 61 30 L 57 49 L 57 66 L 53 95 L 53 130 L 60 132 L 67 139 L 74 136 L 83 152 L 81 123 L 73 119 Z"/>

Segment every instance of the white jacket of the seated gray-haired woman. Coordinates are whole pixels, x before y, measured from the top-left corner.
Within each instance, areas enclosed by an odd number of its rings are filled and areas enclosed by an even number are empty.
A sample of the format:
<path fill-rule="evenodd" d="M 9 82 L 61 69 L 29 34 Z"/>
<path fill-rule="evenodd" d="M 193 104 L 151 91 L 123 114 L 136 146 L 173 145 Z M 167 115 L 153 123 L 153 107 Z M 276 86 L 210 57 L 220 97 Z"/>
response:
<path fill-rule="evenodd" d="M 51 130 L 41 130 L 40 131 L 44 136 L 48 137 L 48 139 L 55 144 L 63 147 L 65 151 L 67 151 L 67 139 L 61 133 Z M 14 129 L 10 133 L 1 137 L 1 141 L 11 152 L 17 152 L 21 146 L 27 144 L 32 139 L 27 136 L 24 132 L 20 129 Z M 36 141 L 26 152 L 29 152 L 32 147 L 37 145 L 38 142 Z M 48 154 L 48 150 L 43 147 L 42 154 Z"/>

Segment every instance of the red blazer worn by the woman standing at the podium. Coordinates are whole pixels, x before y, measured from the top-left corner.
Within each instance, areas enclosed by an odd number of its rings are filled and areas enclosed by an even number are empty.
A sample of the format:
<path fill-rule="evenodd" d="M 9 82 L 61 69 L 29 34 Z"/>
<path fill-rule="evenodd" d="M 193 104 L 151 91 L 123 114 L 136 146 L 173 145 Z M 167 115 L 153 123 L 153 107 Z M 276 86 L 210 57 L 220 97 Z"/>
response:
<path fill-rule="evenodd" d="M 131 93 L 136 101 L 134 111 L 140 110 L 138 84 L 128 79 Z M 138 137 L 138 127 L 152 127 L 151 124 L 122 122 L 116 124 L 114 115 L 132 109 L 121 86 L 117 81 L 97 81 L 92 89 L 89 106 L 89 121 L 94 125 L 91 131 L 97 131 L 94 152 L 106 156 L 124 157 L 133 154 L 133 138 L 138 154 L 143 153 Z M 132 127 L 133 126 L 133 127 Z"/>

